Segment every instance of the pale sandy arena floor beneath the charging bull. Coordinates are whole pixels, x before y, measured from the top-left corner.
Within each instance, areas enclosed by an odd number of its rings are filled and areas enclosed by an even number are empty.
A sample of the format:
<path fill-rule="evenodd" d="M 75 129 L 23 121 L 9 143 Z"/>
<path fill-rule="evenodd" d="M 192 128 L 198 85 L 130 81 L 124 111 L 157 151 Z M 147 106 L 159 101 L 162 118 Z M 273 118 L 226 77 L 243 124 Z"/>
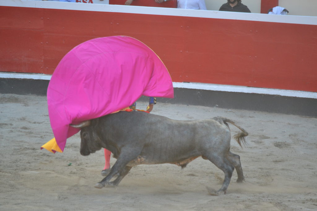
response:
<path fill-rule="evenodd" d="M 246 181 L 236 183 L 235 171 L 227 194 L 211 196 L 206 186 L 219 189 L 223 172 L 197 158 L 183 170 L 139 165 L 119 186 L 96 189 L 102 150 L 81 156 L 79 134 L 63 153 L 40 150 L 53 138 L 46 97 L 0 94 L 0 210 L 317 210 L 316 118 L 160 102 L 152 113 L 236 121 L 249 132 L 243 149 L 231 140 Z"/>

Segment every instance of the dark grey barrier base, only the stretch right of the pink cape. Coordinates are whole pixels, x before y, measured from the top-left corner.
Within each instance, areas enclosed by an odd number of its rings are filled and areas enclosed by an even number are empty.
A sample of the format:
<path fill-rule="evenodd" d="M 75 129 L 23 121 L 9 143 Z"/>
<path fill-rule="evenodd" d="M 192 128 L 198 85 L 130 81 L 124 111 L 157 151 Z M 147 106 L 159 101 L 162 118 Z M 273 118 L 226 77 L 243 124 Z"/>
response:
<path fill-rule="evenodd" d="M 174 88 L 174 98 L 157 102 L 243 109 L 317 117 L 317 99 L 210 90 Z M 146 101 L 146 97 L 140 100 Z"/>

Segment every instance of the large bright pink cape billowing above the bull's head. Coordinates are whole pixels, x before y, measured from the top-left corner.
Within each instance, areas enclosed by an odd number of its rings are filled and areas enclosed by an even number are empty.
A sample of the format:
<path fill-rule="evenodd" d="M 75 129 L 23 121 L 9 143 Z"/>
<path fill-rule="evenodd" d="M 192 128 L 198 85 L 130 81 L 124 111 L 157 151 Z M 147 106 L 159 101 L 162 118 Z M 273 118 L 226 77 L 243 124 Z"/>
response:
<path fill-rule="evenodd" d="M 69 124 L 126 108 L 142 95 L 174 97 L 165 65 L 145 44 L 132 37 L 111 36 L 74 47 L 61 59 L 47 90 L 58 147 L 63 151 L 67 138 L 80 131 Z"/>

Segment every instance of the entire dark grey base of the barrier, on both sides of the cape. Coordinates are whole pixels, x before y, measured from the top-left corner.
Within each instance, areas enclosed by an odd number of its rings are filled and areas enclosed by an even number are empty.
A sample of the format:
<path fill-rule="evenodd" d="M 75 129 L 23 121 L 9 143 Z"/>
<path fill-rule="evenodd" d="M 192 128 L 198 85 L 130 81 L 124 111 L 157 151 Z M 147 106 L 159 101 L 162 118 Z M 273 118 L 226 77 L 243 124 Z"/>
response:
<path fill-rule="evenodd" d="M 45 96 L 48 84 L 48 80 L 0 78 L 0 93 Z M 173 99 L 158 98 L 157 102 L 317 117 L 317 99 L 312 98 L 174 88 Z"/>

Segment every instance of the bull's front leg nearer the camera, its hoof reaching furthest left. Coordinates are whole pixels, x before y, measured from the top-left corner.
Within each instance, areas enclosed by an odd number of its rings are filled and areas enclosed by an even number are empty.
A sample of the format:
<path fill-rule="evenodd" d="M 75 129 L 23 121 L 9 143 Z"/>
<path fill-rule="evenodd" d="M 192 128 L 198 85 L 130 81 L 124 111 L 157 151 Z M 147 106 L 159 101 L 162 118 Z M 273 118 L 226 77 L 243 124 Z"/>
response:
<path fill-rule="evenodd" d="M 122 148 L 121 153 L 117 159 L 117 161 L 112 166 L 110 173 L 107 177 L 103 178 L 99 183 L 95 184 L 95 188 L 103 188 L 105 185 L 112 179 L 113 176 L 118 174 L 121 170 L 125 168 L 125 166 L 135 158 L 138 157 L 142 149 L 137 148 Z"/>

